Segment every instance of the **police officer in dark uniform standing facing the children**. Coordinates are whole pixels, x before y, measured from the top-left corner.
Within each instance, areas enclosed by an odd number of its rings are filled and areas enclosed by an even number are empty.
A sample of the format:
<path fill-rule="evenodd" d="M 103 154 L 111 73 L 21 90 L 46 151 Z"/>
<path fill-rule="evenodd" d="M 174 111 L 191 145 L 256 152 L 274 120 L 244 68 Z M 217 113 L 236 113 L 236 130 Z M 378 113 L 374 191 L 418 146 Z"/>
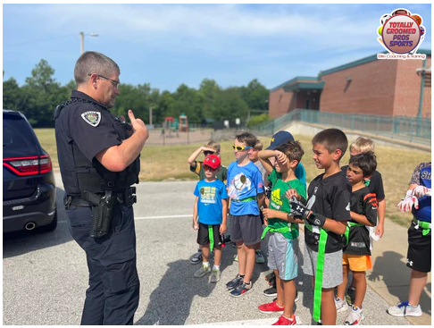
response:
<path fill-rule="evenodd" d="M 56 107 L 55 138 L 72 238 L 86 252 L 89 288 L 81 324 L 133 324 L 138 308 L 132 204 L 139 154 L 149 134 L 109 108 L 119 95 L 119 66 L 96 52 L 79 57 L 77 90 Z"/>

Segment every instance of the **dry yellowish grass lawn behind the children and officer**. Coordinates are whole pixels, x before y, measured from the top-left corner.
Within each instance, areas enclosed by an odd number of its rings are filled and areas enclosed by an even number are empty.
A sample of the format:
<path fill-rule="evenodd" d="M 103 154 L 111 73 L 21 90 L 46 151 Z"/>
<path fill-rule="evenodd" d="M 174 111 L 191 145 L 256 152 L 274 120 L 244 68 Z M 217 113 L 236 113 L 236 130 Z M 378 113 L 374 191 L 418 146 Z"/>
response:
<path fill-rule="evenodd" d="M 54 129 L 36 129 L 38 139 L 50 154 L 54 167 L 58 168 L 57 151 L 55 147 Z M 313 164 L 312 159 L 312 137 L 294 136 L 299 140 L 305 149 L 305 156 L 302 163 L 305 166 L 307 182 L 312 181 L 321 170 Z M 259 138 L 264 147 L 270 145 L 271 137 Z M 351 142 L 352 140 L 348 140 Z M 235 160 L 232 149 L 233 141 L 221 142 L 221 162 L 228 166 Z M 183 145 L 183 146 L 148 146 L 144 147 L 141 153 L 141 172 L 140 181 L 165 181 L 165 180 L 196 180 L 197 176 L 189 171 L 187 162 L 188 156 L 197 147 L 203 144 Z M 386 194 L 386 216 L 396 223 L 407 226 L 411 219 L 411 214 L 405 214 L 398 210 L 396 204 L 400 198 L 405 197 L 405 191 L 410 183 L 414 167 L 421 162 L 430 162 L 430 153 L 406 150 L 397 147 L 375 147 L 377 155 L 378 171 L 383 178 L 383 185 Z M 199 160 L 203 156 L 198 157 Z M 348 163 L 349 153 L 341 160 L 341 165 Z"/>

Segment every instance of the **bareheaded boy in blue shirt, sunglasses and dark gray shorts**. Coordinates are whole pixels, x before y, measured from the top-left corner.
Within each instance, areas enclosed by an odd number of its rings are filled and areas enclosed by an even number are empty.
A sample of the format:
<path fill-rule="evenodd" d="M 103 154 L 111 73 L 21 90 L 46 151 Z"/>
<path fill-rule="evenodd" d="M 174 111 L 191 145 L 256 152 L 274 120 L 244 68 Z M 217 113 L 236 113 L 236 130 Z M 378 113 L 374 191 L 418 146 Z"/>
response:
<path fill-rule="evenodd" d="M 243 132 L 235 137 L 237 158 L 228 167 L 228 196 L 230 197 L 230 240 L 237 245 L 238 274 L 226 284 L 230 296 L 240 297 L 252 289 L 255 268 L 255 244 L 261 240 L 263 224 L 259 207 L 263 206 L 263 178 L 249 159 L 250 149 L 256 144 L 252 133 Z"/>

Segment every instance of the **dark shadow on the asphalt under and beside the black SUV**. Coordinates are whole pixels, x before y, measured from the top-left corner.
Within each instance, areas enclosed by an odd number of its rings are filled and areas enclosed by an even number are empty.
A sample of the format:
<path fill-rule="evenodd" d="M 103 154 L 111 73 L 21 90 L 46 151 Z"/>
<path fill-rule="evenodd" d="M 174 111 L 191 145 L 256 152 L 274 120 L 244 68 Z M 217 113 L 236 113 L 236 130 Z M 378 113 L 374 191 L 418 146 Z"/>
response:
<path fill-rule="evenodd" d="M 51 248 L 72 240 L 66 224 L 63 189 L 56 188 L 57 228 L 54 231 L 16 231 L 3 234 L 3 258 L 18 257 L 33 250 Z"/>

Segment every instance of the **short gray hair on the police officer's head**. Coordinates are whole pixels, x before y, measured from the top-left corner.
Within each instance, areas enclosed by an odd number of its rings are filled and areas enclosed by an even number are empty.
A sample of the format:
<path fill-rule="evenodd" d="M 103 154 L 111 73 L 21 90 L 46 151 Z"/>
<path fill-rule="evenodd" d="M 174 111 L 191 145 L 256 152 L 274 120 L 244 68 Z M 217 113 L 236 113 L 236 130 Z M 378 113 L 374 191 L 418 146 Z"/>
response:
<path fill-rule="evenodd" d="M 74 68 L 74 79 L 77 86 L 88 81 L 88 74 L 101 74 L 110 78 L 114 73 L 121 74 L 117 63 L 106 55 L 96 51 L 87 51 L 79 56 Z"/>

